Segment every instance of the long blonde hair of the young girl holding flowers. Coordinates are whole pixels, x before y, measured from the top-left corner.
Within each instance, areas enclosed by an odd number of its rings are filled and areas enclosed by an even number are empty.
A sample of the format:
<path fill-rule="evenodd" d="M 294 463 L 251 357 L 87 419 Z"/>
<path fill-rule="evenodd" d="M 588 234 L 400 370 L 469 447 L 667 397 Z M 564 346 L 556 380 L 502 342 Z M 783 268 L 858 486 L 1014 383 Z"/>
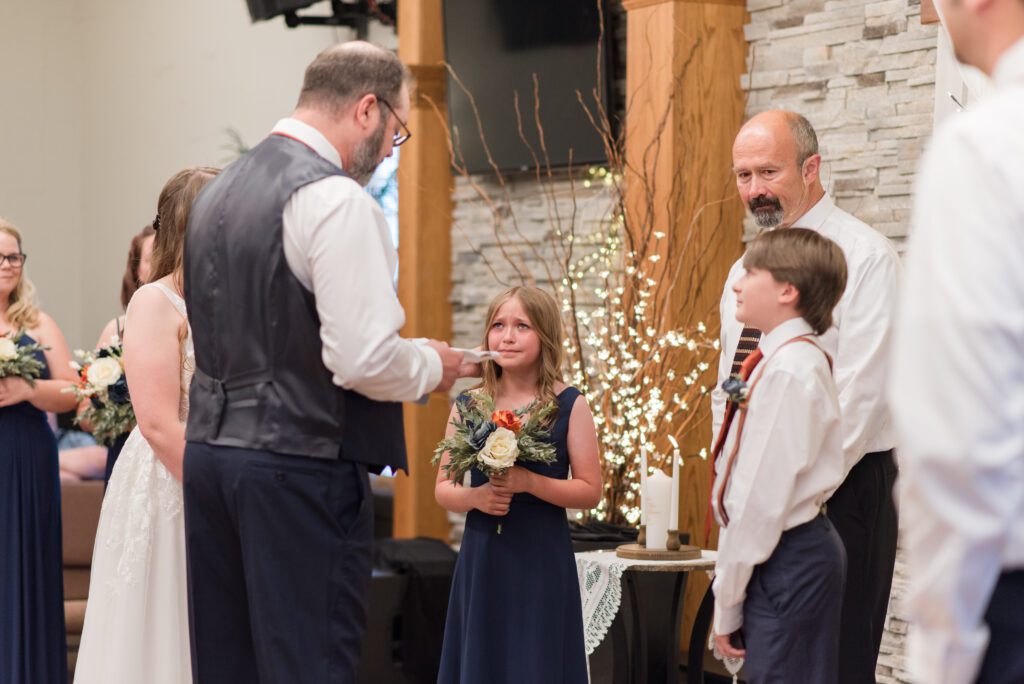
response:
<path fill-rule="evenodd" d="M 487 307 L 487 325 L 483 328 L 483 340 L 480 343 L 483 349 L 489 348 L 487 346 L 487 333 L 495 323 L 498 309 L 511 299 L 518 299 L 519 303 L 522 304 L 530 325 L 541 340 L 541 369 L 537 378 L 537 398 L 542 404 L 545 404 L 555 398 L 555 385 L 562 381 L 565 328 L 562 326 L 558 302 L 548 292 L 528 286 L 516 286 L 501 293 L 492 300 L 490 306 Z M 483 383 L 481 387 L 486 394 L 496 396 L 498 381 L 502 377 L 502 367 L 494 361 L 484 361 L 482 366 Z"/>

